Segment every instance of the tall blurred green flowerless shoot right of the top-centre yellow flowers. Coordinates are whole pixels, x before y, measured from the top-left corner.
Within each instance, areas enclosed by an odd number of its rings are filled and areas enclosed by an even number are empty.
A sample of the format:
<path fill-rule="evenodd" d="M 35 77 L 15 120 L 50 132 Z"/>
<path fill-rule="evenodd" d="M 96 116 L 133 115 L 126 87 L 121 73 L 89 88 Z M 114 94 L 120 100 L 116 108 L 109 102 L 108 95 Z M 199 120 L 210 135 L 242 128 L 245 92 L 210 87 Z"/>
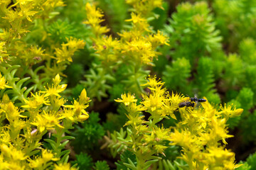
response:
<path fill-rule="evenodd" d="M 206 2 L 196 2 L 194 5 L 181 3 L 176 10 L 169 21 L 170 25 L 166 26 L 174 48 L 174 59 L 185 57 L 193 64 L 197 57 L 220 50 L 222 38 L 215 30 L 213 16 Z"/>

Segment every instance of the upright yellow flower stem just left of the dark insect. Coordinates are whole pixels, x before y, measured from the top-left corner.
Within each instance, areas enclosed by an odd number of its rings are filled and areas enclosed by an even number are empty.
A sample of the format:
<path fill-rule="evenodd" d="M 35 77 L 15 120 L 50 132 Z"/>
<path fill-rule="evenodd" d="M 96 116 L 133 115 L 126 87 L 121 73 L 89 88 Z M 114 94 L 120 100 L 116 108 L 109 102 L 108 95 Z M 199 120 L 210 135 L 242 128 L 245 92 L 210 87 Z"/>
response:
<path fill-rule="evenodd" d="M 137 169 L 143 169 L 146 161 L 152 159 L 154 154 L 164 154 L 166 140 L 169 140 L 170 130 L 159 128 L 159 123 L 167 115 L 175 118 L 174 111 L 178 103 L 183 101 L 183 96 L 178 94 L 169 94 L 162 86 L 164 83 L 157 81 L 156 77 L 149 77 L 148 83 L 142 86 L 149 86 L 151 93 L 142 94 L 143 101 L 137 105 L 137 99 L 131 94 L 123 94 L 122 99 L 117 102 L 124 103 L 129 119 L 125 125 L 132 131 L 132 141 L 128 142 L 128 148 L 137 157 Z M 142 111 L 150 113 L 149 121 L 144 120 Z"/>

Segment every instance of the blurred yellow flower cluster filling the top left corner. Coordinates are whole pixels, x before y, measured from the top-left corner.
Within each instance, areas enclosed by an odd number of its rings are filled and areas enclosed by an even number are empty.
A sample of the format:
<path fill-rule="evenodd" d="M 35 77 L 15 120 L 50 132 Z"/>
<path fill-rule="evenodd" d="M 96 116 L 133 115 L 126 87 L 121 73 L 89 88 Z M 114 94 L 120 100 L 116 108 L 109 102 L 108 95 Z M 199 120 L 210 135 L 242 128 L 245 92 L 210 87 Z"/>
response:
<path fill-rule="evenodd" d="M 62 0 L 0 1 L 0 63 L 31 66 L 45 61 L 47 68 L 43 76 L 51 79 L 50 75 L 63 75 L 66 64 L 73 61 L 74 53 L 82 49 L 85 42 L 70 37 L 60 45 L 50 38 L 46 26 L 38 24 L 46 25 L 58 6 L 65 4 Z M 28 45 L 26 40 L 33 37 L 33 32 L 40 32 L 40 41 L 44 42 L 41 44 L 48 44 L 48 47 Z"/>

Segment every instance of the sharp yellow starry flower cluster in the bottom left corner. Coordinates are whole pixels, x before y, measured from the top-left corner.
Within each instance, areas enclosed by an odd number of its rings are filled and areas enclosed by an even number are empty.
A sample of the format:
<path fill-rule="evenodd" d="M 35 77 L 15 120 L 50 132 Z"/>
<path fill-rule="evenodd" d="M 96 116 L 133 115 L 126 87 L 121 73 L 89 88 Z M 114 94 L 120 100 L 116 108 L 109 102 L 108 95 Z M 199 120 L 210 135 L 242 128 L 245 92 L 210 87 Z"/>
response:
<path fill-rule="evenodd" d="M 66 101 L 60 93 L 67 84 L 60 84 L 60 81 L 60 76 L 56 75 L 53 84 L 45 87 L 45 91 L 24 99 L 26 104 L 21 106 L 22 110 L 14 106 L 6 94 L 3 96 L 0 103 L 0 123 L 4 124 L 0 127 L 0 169 L 47 169 L 61 158 L 60 145 L 65 132 L 72 128 L 73 123 L 89 118 L 85 109 L 90 99 L 85 89 L 73 105 L 64 105 Z M 47 132 L 56 137 L 56 142 L 50 143 L 52 146 L 55 144 L 53 151 L 40 147 L 41 139 Z M 38 152 L 41 152 L 41 157 L 33 157 Z M 62 162 L 57 162 L 54 167 L 71 169 L 69 164 Z"/>

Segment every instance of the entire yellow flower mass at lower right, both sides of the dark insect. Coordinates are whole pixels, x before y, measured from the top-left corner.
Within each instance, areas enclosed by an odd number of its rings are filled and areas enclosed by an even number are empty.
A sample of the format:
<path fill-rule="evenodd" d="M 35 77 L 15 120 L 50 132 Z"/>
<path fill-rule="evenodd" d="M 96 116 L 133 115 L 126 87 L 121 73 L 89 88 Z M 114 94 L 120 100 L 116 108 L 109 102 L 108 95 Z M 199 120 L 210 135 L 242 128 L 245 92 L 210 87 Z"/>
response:
<path fill-rule="evenodd" d="M 142 169 L 146 161 L 152 159 L 154 154 L 164 154 L 164 140 L 169 140 L 171 145 L 182 147 L 181 159 L 189 169 L 235 169 L 235 154 L 225 149 L 225 139 L 228 135 L 227 120 L 239 116 L 242 109 L 232 106 L 220 106 L 216 109 L 208 103 L 202 107 L 185 106 L 179 108 L 181 102 L 193 102 L 190 98 L 180 94 L 169 94 L 163 89 L 164 83 L 157 81 L 156 77 L 149 77 L 148 86 L 150 93 L 142 94 L 142 102 L 137 105 L 137 99 L 131 94 L 123 94 L 117 102 L 124 103 L 129 119 L 125 125 L 132 131 L 131 141 L 124 142 L 137 157 L 137 168 Z M 195 103 L 196 104 L 196 103 Z M 150 113 L 148 120 L 144 120 L 142 111 Z M 179 111 L 181 120 L 176 127 L 168 129 L 159 128 L 159 123 L 164 118 L 176 119 L 174 111 Z M 178 112 L 176 112 L 178 114 Z M 220 144 L 220 141 L 224 145 Z"/>

